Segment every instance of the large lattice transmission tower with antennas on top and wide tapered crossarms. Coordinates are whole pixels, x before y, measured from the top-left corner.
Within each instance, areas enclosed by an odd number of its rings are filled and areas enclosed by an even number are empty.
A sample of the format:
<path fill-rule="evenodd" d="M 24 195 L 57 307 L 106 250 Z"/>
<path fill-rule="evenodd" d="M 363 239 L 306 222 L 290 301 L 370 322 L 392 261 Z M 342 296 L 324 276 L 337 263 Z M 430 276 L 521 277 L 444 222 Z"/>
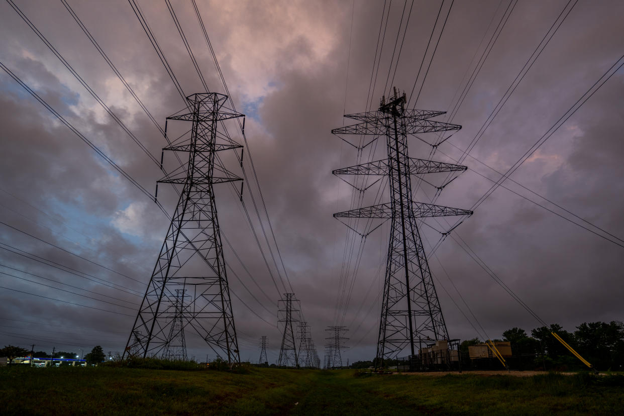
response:
<path fill-rule="evenodd" d="M 376 361 L 380 361 L 376 365 L 382 366 L 384 360 L 396 358 L 406 348 L 414 356 L 421 340 L 449 338 L 422 246 L 417 219 L 472 215 L 472 211 L 412 200 L 412 175 L 461 172 L 467 168 L 409 157 L 407 136 L 454 131 L 461 126 L 430 120 L 445 112 L 406 109 L 405 105 L 406 95 L 397 96 L 395 88 L 394 97 L 388 102 L 386 97 L 382 98 L 379 110 L 345 115 L 344 117 L 358 120 L 359 123 L 331 131 L 338 137 L 386 137 L 388 158 L 333 171 L 334 175 L 384 175 L 389 178 L 389 203 L 334 214 L 335 218 L 391 220 L 376 355 Z"/>

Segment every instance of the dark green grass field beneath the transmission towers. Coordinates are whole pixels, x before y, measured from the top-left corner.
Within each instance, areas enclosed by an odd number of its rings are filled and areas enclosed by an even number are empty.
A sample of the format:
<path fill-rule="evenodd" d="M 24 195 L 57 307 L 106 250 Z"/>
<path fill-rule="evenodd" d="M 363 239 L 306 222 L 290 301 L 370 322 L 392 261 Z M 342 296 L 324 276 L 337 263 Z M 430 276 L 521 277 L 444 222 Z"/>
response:
<path fill-rule="evenodd" d="M 0 369 L 0 414 L 615 415 L 624 376 Z"/>

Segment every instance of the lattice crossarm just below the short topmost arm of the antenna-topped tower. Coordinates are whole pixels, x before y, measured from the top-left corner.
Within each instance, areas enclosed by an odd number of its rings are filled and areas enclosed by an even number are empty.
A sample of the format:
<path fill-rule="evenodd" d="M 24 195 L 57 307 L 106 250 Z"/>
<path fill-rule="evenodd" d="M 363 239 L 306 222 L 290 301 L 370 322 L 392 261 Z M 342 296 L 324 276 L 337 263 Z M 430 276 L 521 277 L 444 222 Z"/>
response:
<path fill-rule="evenodd" d="M 348 125 L 345 127 L 334 128 L 332 134 L 364 134 L 364 135 L 386 135 L 388 133 L 388 125 L 391 123 L 389 115 L 384 118 L 373 119 L 370 121 Z M 447 132 L 451 130 L 459 130 L 461 125 L 435 122 L 432 120 L 418 119 L 416 117 L 400 116 L 397 117 L 397 124 L 401 125 L 404 134 L 419 134 L 431 132 Z"/>

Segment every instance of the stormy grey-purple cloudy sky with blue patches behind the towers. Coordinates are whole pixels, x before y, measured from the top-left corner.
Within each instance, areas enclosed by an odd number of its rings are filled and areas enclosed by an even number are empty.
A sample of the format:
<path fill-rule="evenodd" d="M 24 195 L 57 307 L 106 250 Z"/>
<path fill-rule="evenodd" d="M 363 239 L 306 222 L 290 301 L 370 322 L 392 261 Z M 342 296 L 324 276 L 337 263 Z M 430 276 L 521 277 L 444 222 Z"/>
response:
<path fill-rule="evenodd" d="M 162 134 L 66 6 L 60 0 L 13 1 L 159 158 L 166 144 Z M 164 127 L 165 117 L 185 103 L 129 2 L 67 4 Z M 167 3 L 137 4 L 183 92 L 205 90 Z M 171 5 L 208 89 L 223 93 L 192 2 Z M 417 138 L 409 142 L 411 157 L 461 159 L 469 168 L 442 190 L 438 205 L 470 209 L 492 185 L 487 178 L 499 180 L 547 138 L 446 238 L 442 233 L 455 218 L 421 225 L 451 337 L 494 338 L 511 327 L 540 326 L 467 253 L 478 256 L 548 323 L 573 331 L 582 322 L 624 319 L 624 70 L 614 72 L 623 62 L 618 59 L 624 54 L 624 2 L 198 0 L 197 5 L 232 100 L 246 114 L 246 151 L 278 244 L 245 157 L 251 181 L 243 196 L 266 263 L 236 195 L 227 185 L 216 191 L 221 229 L 256 282 L 225 246 L 241 359 L 257 360 L 258 339 L 266 335 L 268 359 L 276 360 L 277 300 L 286 277 L 319 356 L 329 336 L 324 329 L 340 324 L 349 328 L 350 349 L 343 357 L 374 356 L 389 225 L 363 240 L 332 214 L 372 205 L 376 195 L 388 201 L 389 195 L 380 181 L 360 201 L 359 191 L 354 195 L 331 175 L 358 163 L 357 150 L 331 129 L 353 123 L 343 114 L 376 109 L 392 85 L 406 92 L 410 107 L 446 111 L 436 120 L 462 125 L 432 155 Z M 0 62 L 153 193 L 162 177 L 157 164 L 8 2 L 0 4 L 0 39 Z M 591 89 L 597 81 L 600 88 Z M 101 345 L 105 352 L 122 352 L 168 220 L 4 70 L 0 89 L 0 344 L 85 353 Z M 588 91 L 591 97 L 550 135 Z M 240 132 L 232 135 L 242 140 Z M 384 158 L 379 142 L 359 161 Z M 165 156 L 165 167 L 176 167 L 172 155 Z M 240 173 L 236 168 L 232 163 Z M 439 186 L 446 175 L 424 179 Z M 366 180 L 368 186 L 374 178 Z M 435 195 L 436 188 L 423 182 L 415 199 L 431 202 Z M 160 185 L 158 198 L 172 213 L 175 193 Z M 198 360 L 215 355 L 192 335 L 187 344 L 188 355 Z"/>

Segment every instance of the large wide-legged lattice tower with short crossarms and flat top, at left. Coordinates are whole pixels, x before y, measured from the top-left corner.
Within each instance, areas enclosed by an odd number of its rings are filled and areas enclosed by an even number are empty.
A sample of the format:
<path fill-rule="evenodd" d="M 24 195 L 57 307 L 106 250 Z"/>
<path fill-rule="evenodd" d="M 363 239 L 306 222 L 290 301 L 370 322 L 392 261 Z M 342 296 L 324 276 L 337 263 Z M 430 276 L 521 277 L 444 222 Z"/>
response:
<path fill-rule="evenodd" d="M 163 151 L 186 152 L 188 162 L 158 181 L 182 185 L 182 191 L 124 357 L 163 356 L 168 351 L 176 320 L 165 303 L 175 290 L 187 289 L 182 329 L 193 329 L 218 357 L 233 364 L 240 362 L 240 355 L 213 185 L 241 180 L 223 166 L 217 152 L 241 149 L 242 160 L 242 146 L 229 137 L 227 120 L 245 115 L 228 107 L 223 94 L 193 94 L 187 102 L 187 109 L 167 122 L 191 122 L 191 128 Z"/>

